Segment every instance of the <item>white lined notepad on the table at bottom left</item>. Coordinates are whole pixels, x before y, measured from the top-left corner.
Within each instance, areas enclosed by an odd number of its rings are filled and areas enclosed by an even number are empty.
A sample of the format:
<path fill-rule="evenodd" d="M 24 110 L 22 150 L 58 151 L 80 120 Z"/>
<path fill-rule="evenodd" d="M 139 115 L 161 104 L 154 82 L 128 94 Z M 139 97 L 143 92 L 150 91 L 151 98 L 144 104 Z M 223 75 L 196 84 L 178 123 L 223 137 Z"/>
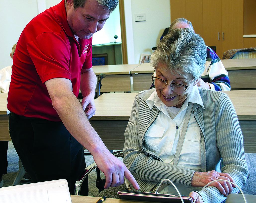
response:
<path fill-rule="evenodd" d="M 67 180 L 0 188 L 1 203 L 71 203 Z"/>

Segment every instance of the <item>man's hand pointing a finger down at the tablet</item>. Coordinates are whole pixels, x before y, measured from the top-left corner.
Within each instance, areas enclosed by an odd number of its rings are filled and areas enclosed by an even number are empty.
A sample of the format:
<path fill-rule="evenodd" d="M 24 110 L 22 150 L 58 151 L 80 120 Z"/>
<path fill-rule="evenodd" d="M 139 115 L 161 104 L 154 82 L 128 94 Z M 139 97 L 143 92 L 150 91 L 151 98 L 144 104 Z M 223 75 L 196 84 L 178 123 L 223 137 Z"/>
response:
<path fill-rule="evenodd" d="M 126 177 L 135 189 L 140 189 L 131 172 L 126 168 L 123 162 L 116 158 L 109 151 L 97 153 L 93 156 L 98 168 L 104 173 L 106 177 L 105 189 L 109 187 L 120 186 L 124 183 Z"/>

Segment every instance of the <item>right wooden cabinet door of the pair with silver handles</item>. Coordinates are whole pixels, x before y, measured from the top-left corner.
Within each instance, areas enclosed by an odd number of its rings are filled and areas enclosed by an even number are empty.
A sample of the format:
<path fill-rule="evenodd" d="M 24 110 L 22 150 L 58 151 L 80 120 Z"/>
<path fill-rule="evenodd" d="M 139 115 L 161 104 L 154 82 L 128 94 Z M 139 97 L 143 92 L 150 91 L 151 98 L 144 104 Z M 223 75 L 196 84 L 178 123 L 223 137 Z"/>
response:
<path fill-rule="evenodd" d="M 222 53 L 243 47 L 243 1 L 222 0 Z M 221 33 L 222 34 L 222 33 Z M 222 37 L 222 36 L 221 36 Z"/>

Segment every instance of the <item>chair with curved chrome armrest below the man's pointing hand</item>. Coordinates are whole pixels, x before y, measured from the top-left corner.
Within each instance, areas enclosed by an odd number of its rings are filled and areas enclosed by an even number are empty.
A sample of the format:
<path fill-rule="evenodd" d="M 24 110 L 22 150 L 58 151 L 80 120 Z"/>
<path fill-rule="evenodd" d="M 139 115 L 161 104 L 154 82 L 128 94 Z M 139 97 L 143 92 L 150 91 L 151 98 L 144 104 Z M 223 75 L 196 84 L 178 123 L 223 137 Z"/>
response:
<path fill-rule="evenodd" d="M 122 158 L 124 157 L 123 151 L 113 152 L 112 154 L 113 154 L 115 157 L 122 157 Z M 79 180 L 76 181 L 76 184 L 75 184 L 75 195 L 80 195 L 80 190 L 81 190 L 81 186 L 82 186 L 82 184 L 83 184 L 84 179 L 85 179 L 85 178 L 92 172 L 92 170 L 94 170 L 95 168 L 99 170 L 99 168 L 97 167 L 97 164 L 94 162 L 94 163 L 90 164 L 89 166 L 87 166 L 87 167 L 84 169 L 84 174 L 83 174 L 83 176 L 82 176 Z M 101 179 L 101 178 L 99 177 L 99 179 Z M 98 181 L 98 174 L 97 174 L 97 180 L 96 180 L 96 187 L 99 188 L 97 181 Z M 106 181 L 106 180 L 103 179 L 101 183 L 102 183 L 102 184 L 104 183 L 104 185 L 105 185 L 105 181 Z M 102 189 L 102 188 L 104 189 L 104 185 L 101 185 L 101 186 L 100 186 L 101 189 Z M 102 189 L 102 190 L 103 190 L 103 189 Z M 102 190 L 99 189 L 99 193 L 100 193 Z"/>

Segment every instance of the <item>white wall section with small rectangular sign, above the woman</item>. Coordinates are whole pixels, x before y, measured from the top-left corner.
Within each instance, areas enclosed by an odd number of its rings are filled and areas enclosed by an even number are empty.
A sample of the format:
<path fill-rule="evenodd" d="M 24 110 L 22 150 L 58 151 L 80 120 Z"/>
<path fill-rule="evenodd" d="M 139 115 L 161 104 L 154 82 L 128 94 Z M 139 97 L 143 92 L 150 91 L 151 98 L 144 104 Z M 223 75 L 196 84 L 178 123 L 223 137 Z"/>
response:
<path fill-rule="evenodd" d="M 126 0 L 131 1 L 133 24 L 134 61 L 139 63 L 141 54 L 152 54 L 164 29 L 171 24 L 170 1 L 168 0 Z M 125 10 L 126 11 L 126 10 Z M 135 22 L 135 14 L 146 14 L 145 22 Z M 129 30 L 126 30 L 126 35 Z M 129 44 L 129 41 L 127 41 Z"/>

